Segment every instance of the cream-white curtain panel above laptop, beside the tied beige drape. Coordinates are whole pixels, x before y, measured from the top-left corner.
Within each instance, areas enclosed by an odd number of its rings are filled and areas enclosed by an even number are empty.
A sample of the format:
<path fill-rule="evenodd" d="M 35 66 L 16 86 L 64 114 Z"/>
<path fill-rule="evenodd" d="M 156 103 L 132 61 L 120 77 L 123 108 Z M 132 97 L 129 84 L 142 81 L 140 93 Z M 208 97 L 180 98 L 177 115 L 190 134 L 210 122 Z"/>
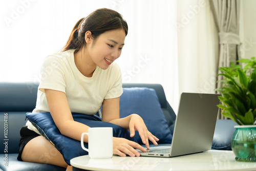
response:
<path fill-rule="evenodd" d="M 215 93 L 218 31 L 209 1 L 177 4 L 179 92 Z"/>

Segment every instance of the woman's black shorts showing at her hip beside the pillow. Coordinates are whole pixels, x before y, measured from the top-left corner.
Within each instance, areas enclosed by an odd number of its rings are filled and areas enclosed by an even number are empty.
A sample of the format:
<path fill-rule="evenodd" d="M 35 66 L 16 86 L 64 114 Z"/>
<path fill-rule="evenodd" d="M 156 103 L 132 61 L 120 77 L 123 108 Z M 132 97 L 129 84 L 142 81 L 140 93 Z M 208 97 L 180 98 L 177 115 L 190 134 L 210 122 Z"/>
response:
<path fill-rule="evenodd" d="M 25 145 L 32 140 L 35 137 L 40 136 L 39 134 L 35 133 L 34 131 L 31 131 L 28 129 L 27 126 L 23 126 L 22 129 L 20 129 L 20 139 L 19 139 L 19 153 L 17 159 L 19 161 L 22 161 L 22 152 L 25 147 Z"/>

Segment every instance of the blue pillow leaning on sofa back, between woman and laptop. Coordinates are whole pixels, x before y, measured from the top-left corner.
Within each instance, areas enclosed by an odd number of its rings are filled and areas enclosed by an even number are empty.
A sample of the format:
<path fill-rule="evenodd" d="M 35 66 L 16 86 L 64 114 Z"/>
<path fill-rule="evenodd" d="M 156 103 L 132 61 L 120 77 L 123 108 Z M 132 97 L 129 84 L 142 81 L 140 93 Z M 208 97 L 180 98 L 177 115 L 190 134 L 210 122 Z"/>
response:
<path fill-rule="evenodd" d="M 154 89 L 123 88 L 123 94 L 120 96 L 120 118 L 131 114 L 140 115 L 147 130 L 159 139 L 158 143 L 172 143 L 173 136 L 168 129 Z M 139 144 L 143 144 L 138 131 L 135 132 L 134 137 Z"/>

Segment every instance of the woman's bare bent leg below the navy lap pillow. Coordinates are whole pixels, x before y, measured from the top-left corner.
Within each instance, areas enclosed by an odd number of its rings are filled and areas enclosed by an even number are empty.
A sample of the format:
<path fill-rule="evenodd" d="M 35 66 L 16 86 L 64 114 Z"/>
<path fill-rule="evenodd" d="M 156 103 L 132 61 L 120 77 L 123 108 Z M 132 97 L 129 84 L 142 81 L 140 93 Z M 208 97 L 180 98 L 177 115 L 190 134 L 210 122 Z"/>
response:
<path fill-rule="evenodd" d="M 60 152 L 43 136 L 35 137 L 25 145 L 22 153 L 22 160 L 34 163 L 52 164 L 61 167 L 68 166 Z"/>

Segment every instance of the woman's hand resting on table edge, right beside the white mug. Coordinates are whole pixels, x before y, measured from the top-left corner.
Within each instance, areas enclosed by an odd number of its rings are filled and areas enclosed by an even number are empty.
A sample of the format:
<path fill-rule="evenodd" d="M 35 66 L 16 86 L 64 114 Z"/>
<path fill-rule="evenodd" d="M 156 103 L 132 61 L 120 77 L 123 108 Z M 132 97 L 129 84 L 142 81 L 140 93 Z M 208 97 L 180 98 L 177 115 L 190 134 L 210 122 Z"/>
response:
<path fill-rule="evenodd" d="M 142 152 L 146 152 L 146 149 L 143 148 L 140 144 L 127 140 L 125 138 L 113 137 L 113 154 L 125 157 L 126 154 L 131 157 L 139 157 L 140 153 L 136 151 L 139 149 Z"/>

